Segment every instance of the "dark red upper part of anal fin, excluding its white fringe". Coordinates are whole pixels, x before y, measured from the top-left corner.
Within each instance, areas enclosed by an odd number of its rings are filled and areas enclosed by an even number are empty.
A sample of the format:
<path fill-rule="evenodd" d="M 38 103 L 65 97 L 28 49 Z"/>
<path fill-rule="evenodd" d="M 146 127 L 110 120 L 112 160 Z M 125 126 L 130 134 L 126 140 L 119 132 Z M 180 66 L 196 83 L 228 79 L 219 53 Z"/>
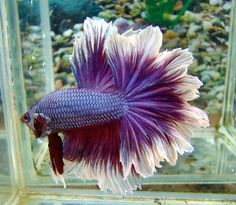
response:
<path fill-rule="evenodd" d="M 71 129 L 63 142 L 64 158 L 69 161 L 86 161 L 92 166 L 109 164 L 119 166 L 120 122 Z"/>

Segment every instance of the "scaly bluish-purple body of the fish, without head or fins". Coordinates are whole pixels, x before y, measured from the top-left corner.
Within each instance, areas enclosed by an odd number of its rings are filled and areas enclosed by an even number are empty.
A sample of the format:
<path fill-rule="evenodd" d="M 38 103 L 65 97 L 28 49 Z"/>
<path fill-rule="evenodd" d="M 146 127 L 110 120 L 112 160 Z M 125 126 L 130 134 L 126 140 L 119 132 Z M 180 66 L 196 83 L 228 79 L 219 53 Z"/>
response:
<path fill-rule="evenodd" d="M 71 88 L 43 97 L 38 107 L 39 112 L 50 118 L 52 130 L 63 131 L 120 119 L 127 104 L 119 93 Z"/>

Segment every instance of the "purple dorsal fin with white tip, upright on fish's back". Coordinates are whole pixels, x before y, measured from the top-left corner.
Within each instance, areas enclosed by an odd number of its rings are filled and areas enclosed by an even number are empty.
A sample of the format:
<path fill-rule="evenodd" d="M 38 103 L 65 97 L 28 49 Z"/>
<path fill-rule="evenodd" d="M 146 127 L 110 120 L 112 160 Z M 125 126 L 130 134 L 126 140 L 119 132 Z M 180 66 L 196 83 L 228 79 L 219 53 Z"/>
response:
<path fill-rule="evenodd" d="M 117 28 L 111 23 L 90 18 L 85 20 L 84 36 L 75 39 L 70 58 L 78 87 L 113 91 L 112 73 L 105 53 L 105 41 L 111 33 L 117 33 Z"/>

